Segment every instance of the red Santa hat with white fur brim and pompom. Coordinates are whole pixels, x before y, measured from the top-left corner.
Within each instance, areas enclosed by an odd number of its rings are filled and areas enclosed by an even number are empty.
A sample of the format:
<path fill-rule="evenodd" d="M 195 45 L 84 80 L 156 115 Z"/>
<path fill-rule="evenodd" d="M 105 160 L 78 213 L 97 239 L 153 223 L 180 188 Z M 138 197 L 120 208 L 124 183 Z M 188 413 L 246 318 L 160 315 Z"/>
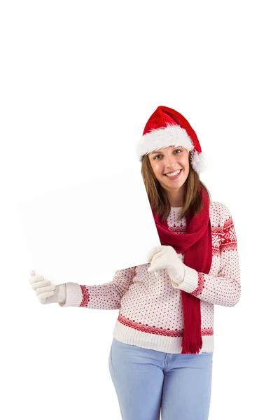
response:
<path fill-rule="evenodd" d="M 205 153 L 186 118 L 172 108 L 158 106 L 148 119 L 143 136 L 137 144 L 137 157 L 141 162 L 144 155 L 169 146 L 186 148 L 191 154 L 191 165 L 197 174 L 207 168 Z"/>

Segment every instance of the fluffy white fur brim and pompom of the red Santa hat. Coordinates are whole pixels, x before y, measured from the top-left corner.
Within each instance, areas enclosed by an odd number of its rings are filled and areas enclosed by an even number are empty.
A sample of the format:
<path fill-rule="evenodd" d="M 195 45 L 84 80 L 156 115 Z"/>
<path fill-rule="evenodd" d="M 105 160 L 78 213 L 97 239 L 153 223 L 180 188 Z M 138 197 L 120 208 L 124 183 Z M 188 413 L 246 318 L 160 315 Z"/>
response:
<path fill-rule="evenodd" d="M 137 157 L 141 162 L 144 155 L 169 146 L 186 148 L 192 154 L 191 164 L 195 172 L 197 174 L 204 172 L 207 167 L 205 154 L 194 150 L 192 139 L 180 125 L 168 124 L 165 128 L 158 128 L 144 134 L 137 144 Z"/>

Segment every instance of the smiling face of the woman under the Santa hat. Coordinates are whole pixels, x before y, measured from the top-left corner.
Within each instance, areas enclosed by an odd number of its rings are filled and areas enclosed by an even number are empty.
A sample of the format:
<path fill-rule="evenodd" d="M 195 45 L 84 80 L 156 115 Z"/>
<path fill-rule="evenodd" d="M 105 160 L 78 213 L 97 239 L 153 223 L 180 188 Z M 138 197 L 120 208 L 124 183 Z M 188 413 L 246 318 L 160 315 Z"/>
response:
<path fill-rule="evenodd" d="M 183 184 L 188 178 L 190 165 L 188 162 L 189 152 L 186 148 L 178 146 L 169 146 L 159 149 L 156 152 L 148 153 L 151 167 L 162 188 L 169 193 L 175 193 L 175 190 L 183 191 Z M 181 169 L 178 176 L 168 177 L 167 173 L 176 172 Z"/>

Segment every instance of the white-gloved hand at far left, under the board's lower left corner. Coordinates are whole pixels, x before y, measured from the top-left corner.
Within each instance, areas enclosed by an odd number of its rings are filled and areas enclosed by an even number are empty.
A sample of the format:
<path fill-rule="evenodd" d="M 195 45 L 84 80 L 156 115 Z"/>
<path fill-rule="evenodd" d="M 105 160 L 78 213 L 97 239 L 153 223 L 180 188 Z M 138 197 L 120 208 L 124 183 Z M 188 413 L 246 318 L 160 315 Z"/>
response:
<path fill-rule="evenodd" d="M 43 276 L 38 276 L 34 271 L 30 272 L 31 288 L 36 290 L 36 295 L 39 302 L 46 303 L 65 303 L 66 302 L 66 284 L 55 284 L 50 283 L 50 280 Z"/>

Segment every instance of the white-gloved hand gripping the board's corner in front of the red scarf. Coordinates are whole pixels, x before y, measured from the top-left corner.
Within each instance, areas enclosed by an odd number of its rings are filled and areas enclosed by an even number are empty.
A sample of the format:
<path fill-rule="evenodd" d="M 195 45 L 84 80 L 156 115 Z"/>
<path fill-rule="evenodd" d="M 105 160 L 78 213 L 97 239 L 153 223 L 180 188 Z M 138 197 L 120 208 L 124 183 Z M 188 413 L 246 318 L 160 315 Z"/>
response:
<path fill-rule="evenodd" d="M 166 269 L 170 279 L 176 283 L 182 283 L 185 276 L 185 265 L 180 260 L 175 249 L 169 245 L 154 246 L 147 255 L 147 260 L 151 261 L 148 272 L 155 272 L 155 276 L 160 275 L 160 269 Z"/>

